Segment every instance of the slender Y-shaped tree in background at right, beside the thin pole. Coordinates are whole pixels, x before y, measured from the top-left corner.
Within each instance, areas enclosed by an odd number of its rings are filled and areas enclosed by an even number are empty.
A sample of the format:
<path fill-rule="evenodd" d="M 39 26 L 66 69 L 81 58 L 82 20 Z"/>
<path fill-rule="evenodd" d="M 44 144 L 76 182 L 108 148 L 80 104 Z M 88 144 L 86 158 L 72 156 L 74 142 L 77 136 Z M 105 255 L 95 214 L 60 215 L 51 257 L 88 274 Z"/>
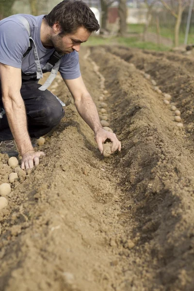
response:
<path fill-rule="evenodd" d="M 175 47 L 179 44 L 179 30 L 182 21 L 182 13 L 185 8 L 189 5 L 190 0 L 160 0 L 163 6 L 171 13 L 172 16 L 176 18 L 175 23 Z"/>

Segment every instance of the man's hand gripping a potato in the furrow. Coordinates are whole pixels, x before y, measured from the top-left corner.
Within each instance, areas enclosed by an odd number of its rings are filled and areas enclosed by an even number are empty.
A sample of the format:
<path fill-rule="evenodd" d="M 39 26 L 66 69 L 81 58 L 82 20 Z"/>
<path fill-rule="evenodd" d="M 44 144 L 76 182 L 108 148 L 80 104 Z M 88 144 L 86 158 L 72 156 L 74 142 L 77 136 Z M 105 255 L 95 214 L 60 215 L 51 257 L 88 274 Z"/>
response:
<path fill-rule="evenodd" d="M 110 139 L 113 143 L 112 147 L 111 147 L 112 153 L 115 152 L 117 149 L 119 151 L 121 150 L 121 143 L 117 139 L 116 134 L 113 132 L 109 132 L 105 129 L 100 128 L 97 130 L 97 132 L 95 134 L 95 139 L 96 139 L 97 146 L 98 146 L 98 149 L 99 149 L 101 154 L 103 152 L 102 143 L 104 143 L 106 141 L 106 139 Z"/>

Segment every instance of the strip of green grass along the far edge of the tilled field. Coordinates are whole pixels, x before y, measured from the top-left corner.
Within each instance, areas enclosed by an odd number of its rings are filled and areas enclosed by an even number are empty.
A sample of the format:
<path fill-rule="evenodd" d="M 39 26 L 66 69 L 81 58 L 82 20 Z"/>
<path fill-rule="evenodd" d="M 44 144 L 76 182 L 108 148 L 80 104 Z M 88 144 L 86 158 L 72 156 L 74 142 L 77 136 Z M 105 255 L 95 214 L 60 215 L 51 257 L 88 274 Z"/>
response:
<path fill-rule="evenodd" d="M 90 36 L 87 43 L 81 46 L 98 46 L 98 45 L 123 45 L 130 48 L 152 49 L 152 50 L 169 50 L 165 46 L 158 47 L 157 44 L 151 42 L 143 42 L 138 37 L 109 37 L 103 38 L 101 36 Z"/>

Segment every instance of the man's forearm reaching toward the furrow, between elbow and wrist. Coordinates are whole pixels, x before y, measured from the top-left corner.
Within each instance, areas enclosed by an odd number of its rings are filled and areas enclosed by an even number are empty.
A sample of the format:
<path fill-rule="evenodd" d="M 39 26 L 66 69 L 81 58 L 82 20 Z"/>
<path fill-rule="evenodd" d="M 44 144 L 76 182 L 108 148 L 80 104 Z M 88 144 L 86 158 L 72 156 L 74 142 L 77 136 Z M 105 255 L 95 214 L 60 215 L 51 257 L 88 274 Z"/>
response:
<path fill-rule="evenodd" d="M 102 128 L 97 113 L 97 107 L 89 94 L 81 97 L 80 100 L 76 100 L 75 104 L 82 119 L 95 133 L 99 128 Z"/>

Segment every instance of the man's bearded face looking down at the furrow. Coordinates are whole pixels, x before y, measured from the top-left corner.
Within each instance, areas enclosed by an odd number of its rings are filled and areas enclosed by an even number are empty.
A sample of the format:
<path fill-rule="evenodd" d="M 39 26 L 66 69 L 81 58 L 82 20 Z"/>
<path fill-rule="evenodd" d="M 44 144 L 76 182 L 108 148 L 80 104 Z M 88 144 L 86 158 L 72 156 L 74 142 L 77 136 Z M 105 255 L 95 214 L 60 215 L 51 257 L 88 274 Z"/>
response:
<path fill-rule="evenodd" d="M 88 32 L 83 27 L 80 27 L 72 34 L 62 36 L 59 35 L 59 33 L 52 35 L 50 40 L 55 50 L 61 55 L 70 53 L 74 50 L 79 51 L 81 43 L 86 42 L 91 35 L 91 32 Z"/>

